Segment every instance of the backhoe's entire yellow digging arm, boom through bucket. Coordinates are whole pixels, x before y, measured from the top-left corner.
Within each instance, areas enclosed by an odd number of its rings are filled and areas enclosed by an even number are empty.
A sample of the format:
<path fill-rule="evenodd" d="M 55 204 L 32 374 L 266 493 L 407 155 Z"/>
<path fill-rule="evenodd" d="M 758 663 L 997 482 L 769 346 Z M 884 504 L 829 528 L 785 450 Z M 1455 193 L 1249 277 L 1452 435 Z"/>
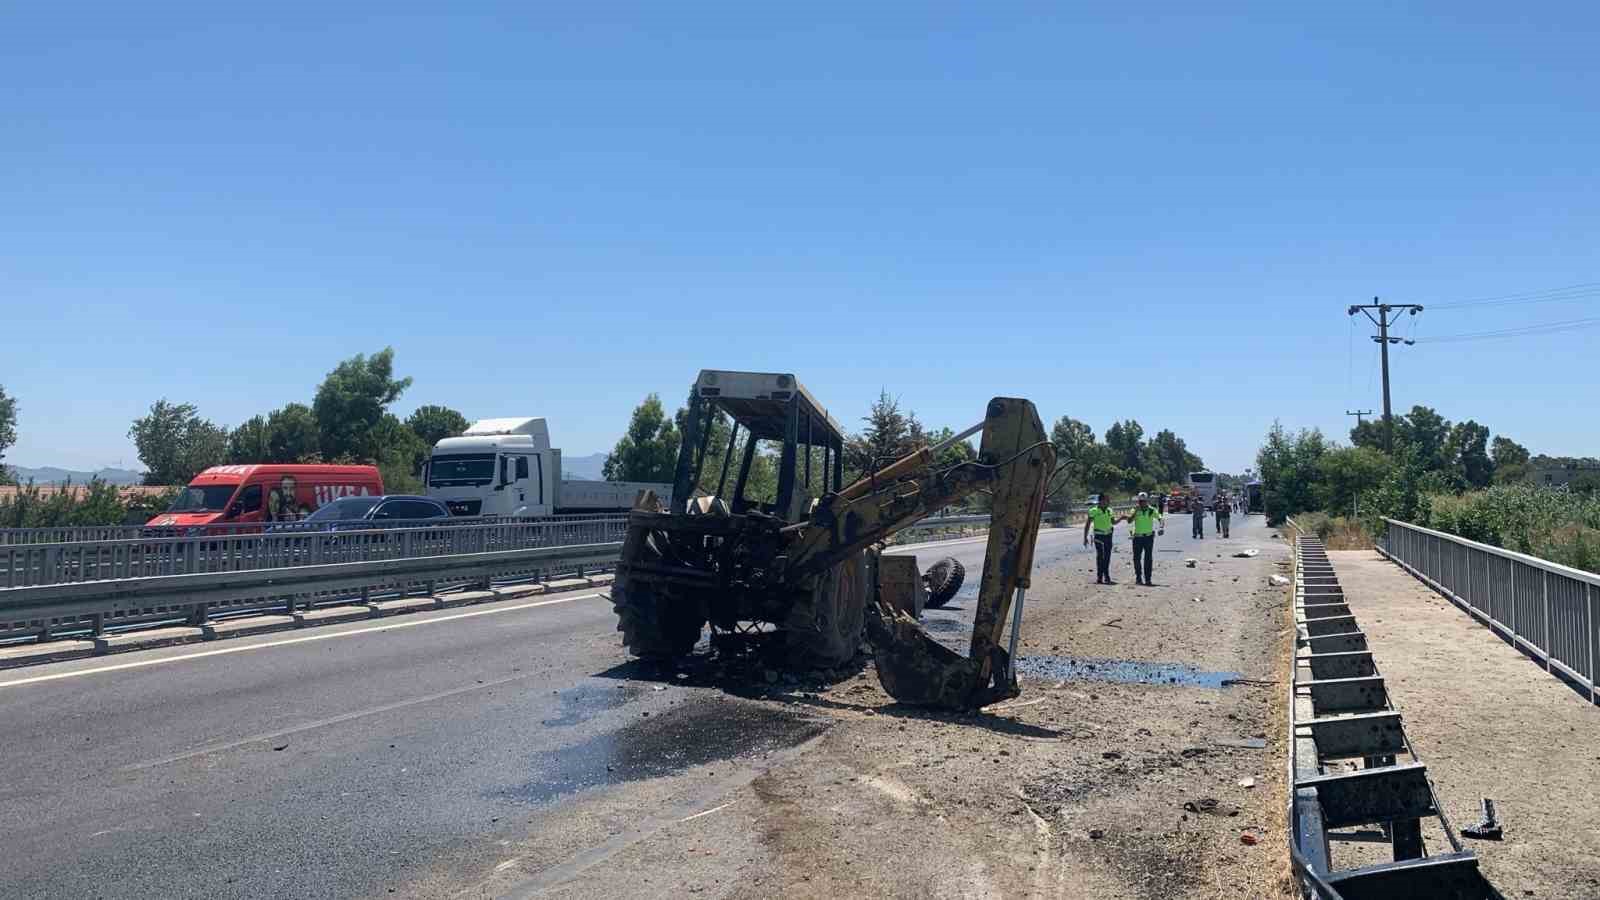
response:
<path fill-rule="evenodd" d="M 1019 693 L 1011 652 L 1021 626 L 1021 602 L 1034 567 L 1034 544 L 1043 512 L 1045 485 L 1056 452 L 1034 404 L 1014 397 L 989 402 L 984 421 L 950 439 L 982 431 L 978 460 L 936 463 L 944 447 L 925 447 L 869 477 L 827 495 L 806 522 L 786 528 L 790 540 L 782 577 L 814 578 L 853 554 L 978 490 L 992 496 L 989 546 L 978 591 L 973 639 L 966 657 L 933 641 L 904 612 L 877 601 L 867 613 L 878 679 L 891 697 L 920 706 L 976 709 Z M 947 442 L 949 444 L 949 442 Z M 1011 652 L 1000 647 L 1006 617 Z"/>

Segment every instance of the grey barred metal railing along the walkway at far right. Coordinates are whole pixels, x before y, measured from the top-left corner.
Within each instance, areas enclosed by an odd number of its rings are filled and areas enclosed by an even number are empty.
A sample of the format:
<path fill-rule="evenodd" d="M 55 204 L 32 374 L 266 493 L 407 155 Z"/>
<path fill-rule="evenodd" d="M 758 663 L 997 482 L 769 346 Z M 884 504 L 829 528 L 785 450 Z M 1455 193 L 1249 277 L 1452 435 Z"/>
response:
<path fill-rule="evenodd" d="M 1378 552 L 1600 701 L 1600 575 L 1410 522 Z"/>

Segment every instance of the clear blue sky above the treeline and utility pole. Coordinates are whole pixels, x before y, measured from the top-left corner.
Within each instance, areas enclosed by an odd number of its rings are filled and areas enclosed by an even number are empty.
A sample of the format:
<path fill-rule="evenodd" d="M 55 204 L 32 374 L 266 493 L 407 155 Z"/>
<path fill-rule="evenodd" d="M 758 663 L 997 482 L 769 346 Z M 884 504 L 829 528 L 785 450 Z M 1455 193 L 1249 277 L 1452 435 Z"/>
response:
<path fill-rule="evenodd" d="M 232 426 L 392 344 L 395 412 L 570 455 L 720 367 L 1240 471 L 1378 405 L 1347 304 L 1600 282 L 1600 6 L 1131 6 L 6 3 L 8 461 L 134 466 L 158 397 Z M 1400 348 L 1395 405 L 1594 453 L 1597 338 Z"/>

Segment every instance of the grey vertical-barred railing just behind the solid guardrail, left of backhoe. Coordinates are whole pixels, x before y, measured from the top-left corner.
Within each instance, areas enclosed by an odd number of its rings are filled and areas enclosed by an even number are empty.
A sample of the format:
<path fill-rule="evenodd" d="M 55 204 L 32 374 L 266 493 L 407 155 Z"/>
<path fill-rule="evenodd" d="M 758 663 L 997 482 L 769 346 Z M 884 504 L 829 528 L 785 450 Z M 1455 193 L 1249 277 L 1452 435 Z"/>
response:
<path fill-rule="evenodd" d="M 315 524 L 314 524 L 315 525 Z M 155 575 L 246 572 L 411 559 L 539 546 L 622 540 L 626 516 L 594 519 L 424 519 L 360 530 L 309 528 L 234 532 L 194 536 L 141 536 L 109 541 L 22 543 L 0 546 L 0 586 L 24 588 Z"/>

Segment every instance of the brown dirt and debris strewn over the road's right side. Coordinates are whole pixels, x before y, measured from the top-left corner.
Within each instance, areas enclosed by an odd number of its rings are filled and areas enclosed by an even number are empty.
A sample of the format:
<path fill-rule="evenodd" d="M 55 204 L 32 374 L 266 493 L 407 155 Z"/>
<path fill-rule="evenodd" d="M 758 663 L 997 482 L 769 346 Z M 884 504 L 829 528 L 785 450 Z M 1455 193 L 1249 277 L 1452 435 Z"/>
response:
<path fill-rule="evenodd" d="M 830 722 L 814 745 L 542 895 L 1290 897 L 1288 601 L 1269 581 L 1288 551 L 1256 530 L 1187 556 L 1154 588 L 1125 546 L 1117 586 L 1088 556 L 1037 573 L 1021 655 L 1072 661 L 982 714 L 901 708 L 870 666 L 776 690 Z M 1102 681 L 1130 673 L 1158 684 Z"/>

